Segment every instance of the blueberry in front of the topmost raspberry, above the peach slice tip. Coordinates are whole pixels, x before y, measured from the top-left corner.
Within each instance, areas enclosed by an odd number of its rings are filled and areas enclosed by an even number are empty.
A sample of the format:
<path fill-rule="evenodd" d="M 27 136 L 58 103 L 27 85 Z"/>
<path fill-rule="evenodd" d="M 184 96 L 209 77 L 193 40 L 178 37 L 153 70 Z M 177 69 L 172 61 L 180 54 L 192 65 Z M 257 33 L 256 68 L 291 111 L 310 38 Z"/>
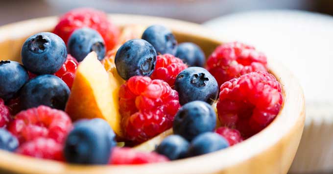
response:
<path fill-rule="evenodd" d="M 105 56 L 105 43 L 96 30 L 84 27 L 76 29 L 71 34 L 67 50 L 78 62 L 81 62 L 92 51 L 96 52 L 98 60 L 102 60 Z"/>

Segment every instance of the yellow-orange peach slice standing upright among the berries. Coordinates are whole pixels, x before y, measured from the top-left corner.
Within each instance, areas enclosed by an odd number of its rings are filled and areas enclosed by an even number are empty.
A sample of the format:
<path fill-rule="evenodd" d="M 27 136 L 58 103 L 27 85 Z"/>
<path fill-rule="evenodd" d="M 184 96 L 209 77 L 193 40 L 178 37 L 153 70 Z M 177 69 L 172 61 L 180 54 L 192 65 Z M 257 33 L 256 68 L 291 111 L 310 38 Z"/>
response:
<path fill-rule="evenodd" d="M 118 81 L 110 81 L 96 53 L 89 53 L 77 67 L 65 111 L 73 120 L 105 119 L 121 136 L 118 85 L 115 83 Z"/>

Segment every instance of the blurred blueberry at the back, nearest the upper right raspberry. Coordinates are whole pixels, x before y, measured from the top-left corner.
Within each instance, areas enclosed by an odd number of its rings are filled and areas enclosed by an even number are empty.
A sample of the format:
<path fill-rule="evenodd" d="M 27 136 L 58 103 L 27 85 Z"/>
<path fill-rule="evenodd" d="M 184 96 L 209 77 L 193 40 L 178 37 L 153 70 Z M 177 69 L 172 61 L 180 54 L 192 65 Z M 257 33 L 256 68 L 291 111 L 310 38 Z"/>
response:
<path fill-rule="evenodd" d="M 191 42 L 179 44 L 175 56 L 182 59 L 189 67 L 203 67 L 206 59 L 200 47 Z"/>

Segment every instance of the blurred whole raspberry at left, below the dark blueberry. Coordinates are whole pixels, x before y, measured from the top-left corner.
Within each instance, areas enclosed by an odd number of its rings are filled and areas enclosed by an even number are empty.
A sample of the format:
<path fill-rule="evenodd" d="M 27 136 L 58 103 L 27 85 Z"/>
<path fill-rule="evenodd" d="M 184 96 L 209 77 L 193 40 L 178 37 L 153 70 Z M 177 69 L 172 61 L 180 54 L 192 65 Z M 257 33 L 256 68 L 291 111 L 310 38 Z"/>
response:
<path fill-rule="evenodd" d="M 63 143 L 71 127 L 71 118 L 65 112 L 38 106 L 18 113 L 8 130 L 19 139 L 20 144 L 38 137 Z"/>

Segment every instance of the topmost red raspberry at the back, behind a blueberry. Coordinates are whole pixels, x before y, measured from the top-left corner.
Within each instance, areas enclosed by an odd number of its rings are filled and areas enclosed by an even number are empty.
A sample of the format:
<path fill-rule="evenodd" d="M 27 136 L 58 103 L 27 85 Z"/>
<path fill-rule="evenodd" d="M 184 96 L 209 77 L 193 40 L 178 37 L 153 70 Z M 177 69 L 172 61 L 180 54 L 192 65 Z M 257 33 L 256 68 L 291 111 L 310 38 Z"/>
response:
<path fill-rule="evenodd" d="M 82 27 L 98 31 L 104 39 L 106 50 L 112 50 L 118 42 L 119 29 L 107 19 L 104 12 L 92 8 L 77 8 L 67 12 L 60 17 L 53 32 L 67 44 L 71 33 Z"/>

